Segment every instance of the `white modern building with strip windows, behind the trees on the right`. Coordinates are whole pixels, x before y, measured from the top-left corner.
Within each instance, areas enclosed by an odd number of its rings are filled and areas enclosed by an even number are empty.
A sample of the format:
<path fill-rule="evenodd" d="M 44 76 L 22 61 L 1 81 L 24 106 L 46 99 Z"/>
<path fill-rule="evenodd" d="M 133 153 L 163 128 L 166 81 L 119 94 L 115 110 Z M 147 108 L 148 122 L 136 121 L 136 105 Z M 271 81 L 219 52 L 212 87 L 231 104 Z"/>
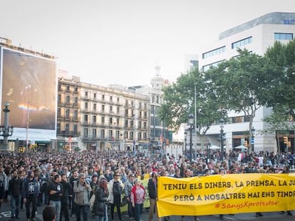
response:
<path fill-rule="evenodd" d="M 274 45 L 275 41 L 287 43 L 294 39 L 295 13 L 269 13 L 247 23 L 224 31 L 219 35 L 219 41 L 204 50 L 199 55 L 200 71 L 204 72 L 212 66 L 216 66 L 224 60 L 237 56 L 237 48 L 264 55 L 267 48 Z M 276 139 L 272 134 L 263 134 L 267 128 L 264 119 L 271 113 L 271 109 L 262 107 L 257 111 L 253 126 L 255 129 L 254 150 L 276 151 Z M 219 125 L 212 125 L 207 131 L 207 138 L 212 145 L 219 145 L 217 136 L 220 133 Z M 249 130 L 249 118 L 243 113 L 229 113 L 229 124 L 224 125 L 226 133 L 226 145 L 228 149 L 244 145 Z M 280 139 L 283 139 L 281 134 Z M 294 140 L 294 134 L 290 135 Z M 292 145 L 294 146 L 294 142 Z"/>

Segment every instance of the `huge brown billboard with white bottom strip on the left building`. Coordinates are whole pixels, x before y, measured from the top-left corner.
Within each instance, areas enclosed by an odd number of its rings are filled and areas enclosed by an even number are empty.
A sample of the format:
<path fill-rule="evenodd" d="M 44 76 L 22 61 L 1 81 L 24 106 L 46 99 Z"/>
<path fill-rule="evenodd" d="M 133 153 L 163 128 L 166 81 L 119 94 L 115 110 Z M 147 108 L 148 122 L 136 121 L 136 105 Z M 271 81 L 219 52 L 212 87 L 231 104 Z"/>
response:
<path fill-rule="evenodd" d="M 1 49 L 1 106 L 9 102 L 9 139 L 56 139 L 56 61 Z M 4 124 L 4 112 L 1 112 Z M 29 136 L 29 137 L 28 137 Z"/>

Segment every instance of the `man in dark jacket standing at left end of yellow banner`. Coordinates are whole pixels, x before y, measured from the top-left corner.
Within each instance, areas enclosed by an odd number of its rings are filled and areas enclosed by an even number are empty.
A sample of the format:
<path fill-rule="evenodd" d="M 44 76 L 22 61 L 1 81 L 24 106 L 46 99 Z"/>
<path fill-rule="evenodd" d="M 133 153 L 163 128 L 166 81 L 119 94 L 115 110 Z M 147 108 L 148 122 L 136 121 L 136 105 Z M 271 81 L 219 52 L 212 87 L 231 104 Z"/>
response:
<path fill-rule="evenodd" d="M 157 221 L 160 221 L 161 218 L 157 215 L 157 177 L 159 175 L 156 171 L 152 172 L 151 178 L 148 180 L 148 194 L 150 195 L 150 212 L 148 214 L 148 220 L 152 221 L 152 217 L 155 215 Z"/>

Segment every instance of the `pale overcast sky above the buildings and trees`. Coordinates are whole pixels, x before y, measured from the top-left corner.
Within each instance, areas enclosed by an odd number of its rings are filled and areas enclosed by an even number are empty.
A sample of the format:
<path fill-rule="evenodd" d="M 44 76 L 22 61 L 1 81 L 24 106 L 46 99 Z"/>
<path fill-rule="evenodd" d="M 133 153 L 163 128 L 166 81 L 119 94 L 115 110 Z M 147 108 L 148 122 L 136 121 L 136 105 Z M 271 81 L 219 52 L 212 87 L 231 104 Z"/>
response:
<path fill-rule="evenodd" d="M 294 0 L 0 0 L 0 37 L 57 57 L 82 82 L 149 85 L 177 80 L 187 55 L 219 33 L 270 12 L 294 12 Z M 291 11 L 293 9 L 293 11 Z"/>

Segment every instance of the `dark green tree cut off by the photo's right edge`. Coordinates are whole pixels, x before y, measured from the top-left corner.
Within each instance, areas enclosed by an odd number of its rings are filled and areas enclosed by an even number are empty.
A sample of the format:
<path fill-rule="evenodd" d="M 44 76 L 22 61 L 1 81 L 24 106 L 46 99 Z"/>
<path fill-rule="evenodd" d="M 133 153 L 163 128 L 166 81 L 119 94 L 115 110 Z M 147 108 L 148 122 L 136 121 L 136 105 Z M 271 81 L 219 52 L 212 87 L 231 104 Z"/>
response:
<path fill-rule="evenodd" d="M 268 87 L 262 93 L 273 114 L 283 114 L 285 119 L 295 119 L 295 40 L 286 45 L 276 41 L 264 55 Z M 275 118 L 273 118 L 275 119 Z"/>

